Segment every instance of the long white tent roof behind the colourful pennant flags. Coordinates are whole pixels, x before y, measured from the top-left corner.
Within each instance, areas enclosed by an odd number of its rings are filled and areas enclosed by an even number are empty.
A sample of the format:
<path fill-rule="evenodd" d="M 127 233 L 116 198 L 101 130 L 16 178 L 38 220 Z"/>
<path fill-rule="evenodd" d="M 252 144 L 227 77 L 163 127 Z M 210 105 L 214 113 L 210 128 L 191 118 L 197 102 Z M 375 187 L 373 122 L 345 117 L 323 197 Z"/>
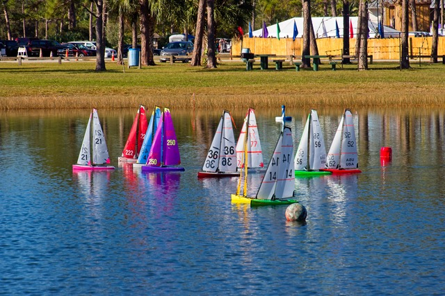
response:
<path fill-rule="evenodd" d="M 353 37 L 357 37 L 357 21 L 358 17 L 349 17 L 350 22 L 353 24 Z M 280 26 L 280 38 L 292 38 L 293 37 L 293 21 L 296 22 L 298 35 L 300 38 L 303 36 L 303 18 L 293 17 L 286 21 L 278 23 Z M 343 37 L 343 17 L 312 17 L 312 25 L 314 26 L 314 33 L 316 38 L 323 37 L 337 37 L 337 30 L 335 22 L 339 27 L 339 35 Z M 378 35 L 378 24 L 372 21 L 368 21 L 369 26 L 369 38 L 375 38 Z M 277 24 L 273 24 L 267 27 L 268 37 L 277 37 Z M 400 31 L 394 30 L 387 26 L 383 26 L 385 38 L 387 37 L 399 37 Z M 253 31 L 254 37 L 261 37 L 262 29 Z"/>

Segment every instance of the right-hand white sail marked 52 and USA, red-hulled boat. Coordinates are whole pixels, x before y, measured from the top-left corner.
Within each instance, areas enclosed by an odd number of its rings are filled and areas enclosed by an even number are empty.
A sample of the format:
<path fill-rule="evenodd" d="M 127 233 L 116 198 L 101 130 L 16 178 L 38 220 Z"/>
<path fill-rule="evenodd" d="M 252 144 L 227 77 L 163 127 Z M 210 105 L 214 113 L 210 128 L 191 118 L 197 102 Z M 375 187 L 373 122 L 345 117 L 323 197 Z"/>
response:
<path fill-rule="evenodd" d="M 353 114 L 346 110 L 343 121 L 343 139 L 341 141 L 340 168 L 357 168 L 357 141 L 355 141 L 355 130 Z"/>

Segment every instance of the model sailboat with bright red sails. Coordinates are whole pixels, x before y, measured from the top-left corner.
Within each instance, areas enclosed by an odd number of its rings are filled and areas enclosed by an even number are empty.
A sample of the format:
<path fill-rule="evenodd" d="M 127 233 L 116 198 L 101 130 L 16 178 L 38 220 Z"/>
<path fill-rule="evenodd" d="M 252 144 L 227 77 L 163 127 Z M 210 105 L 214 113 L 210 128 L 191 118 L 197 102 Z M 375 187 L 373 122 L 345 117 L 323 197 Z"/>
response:
<path fill-rule="evenodd" d="M 140 105 L 131 126 L 127 143 L 125 143 L 124 150 L 122 151 L 122 156 L 118 158 L 118 162 L 132 164 L 137 161 L 140 147 L 145 138 L 145 132 L 147 132 L 147 116 L 145 115 L 145 107 Z"/>

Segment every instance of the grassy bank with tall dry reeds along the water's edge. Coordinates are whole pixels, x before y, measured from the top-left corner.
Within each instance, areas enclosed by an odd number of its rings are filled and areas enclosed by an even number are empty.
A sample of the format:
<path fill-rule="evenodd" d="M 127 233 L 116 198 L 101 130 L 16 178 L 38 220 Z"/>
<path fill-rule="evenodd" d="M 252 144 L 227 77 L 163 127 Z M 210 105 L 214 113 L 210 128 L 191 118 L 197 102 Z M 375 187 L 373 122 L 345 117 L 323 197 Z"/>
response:
<path fill-rule="evenodd" d="M 108 62 L 108 71 L 96 73 L 93 62 L 1 62 L 0 109 L 445 106 L 444 64 L 413 64 L 406 71 L 397 66 L 381 62 L 359 72 L 357 65 L 330 71 L 323 64 L 317 72 L 296 72 L 289 65 L 260 71 L 257 63 L 245 71 L 241 62 L 223 61 L 211 70 L 159 63 L 123 73 Z"/>

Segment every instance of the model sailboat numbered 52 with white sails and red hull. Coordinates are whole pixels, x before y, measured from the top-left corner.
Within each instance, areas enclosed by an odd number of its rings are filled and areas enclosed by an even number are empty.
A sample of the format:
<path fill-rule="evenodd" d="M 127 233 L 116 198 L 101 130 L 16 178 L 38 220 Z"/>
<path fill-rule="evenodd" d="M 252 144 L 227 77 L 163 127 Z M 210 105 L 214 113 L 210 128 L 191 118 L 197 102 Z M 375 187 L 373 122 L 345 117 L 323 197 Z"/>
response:
<path fill-rule="evenodd" d="M 326 168 L 323 171 L 330 171 L 334 174 L 362 173 L 358 167 L 353 114 L 346 109 L 341 116 L 339 128 L 337 128 L 329 153 L 327 153 Z"/>

